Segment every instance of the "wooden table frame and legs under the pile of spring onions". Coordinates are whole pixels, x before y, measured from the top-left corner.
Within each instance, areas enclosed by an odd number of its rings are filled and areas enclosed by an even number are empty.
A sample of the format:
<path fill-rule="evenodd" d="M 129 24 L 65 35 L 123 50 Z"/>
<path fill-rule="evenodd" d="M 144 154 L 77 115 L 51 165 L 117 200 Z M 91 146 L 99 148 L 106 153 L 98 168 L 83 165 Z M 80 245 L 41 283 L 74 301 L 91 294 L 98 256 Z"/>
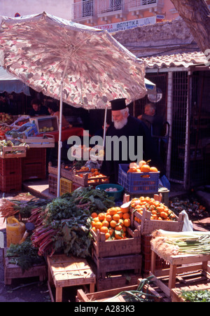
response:
<path fill-rule="evenodd" d="M 210 267 L 208 266 L 208 261 L 210 261 L 210 255 L 203 254 L 179 254 L 176 256 L 169 256 L 167 261 L 169 262 L 169 269 L 164 270 L 155 270 L 155 257 L 158 255 L 160 257 L 161 254 L 157 252 L 157 250 L 151 247 L 152 258 L 151 258 L 151 275 L 155 276 L 156 282 L 160 289 L 165 292 L 167 296 L 171 296 L 171 290 L 178 286 L 176 281 L 183 282 L 185 285 L 187 281 L 183 281 L 184 277 L 188 275 L 193 277 L 193 272 L 200 272 L 199 278 L 194 278 L 195 282 L 210 282 Z M 166 258 L 163 258 L 166 260 Z M 168 280 L 168 284 L 165 284 L 163 280 Z M 192 283 L 192 279 L 189 280 Z M 180 287 L 180 284 L 179 284 Z"/>

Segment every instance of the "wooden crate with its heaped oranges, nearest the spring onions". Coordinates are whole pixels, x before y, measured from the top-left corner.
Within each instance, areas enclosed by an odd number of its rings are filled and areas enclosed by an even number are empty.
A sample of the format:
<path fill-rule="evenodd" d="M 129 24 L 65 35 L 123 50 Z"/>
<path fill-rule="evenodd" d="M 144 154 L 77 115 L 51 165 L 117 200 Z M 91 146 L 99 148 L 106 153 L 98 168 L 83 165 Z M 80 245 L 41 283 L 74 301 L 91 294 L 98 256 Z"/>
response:
<path fill-rule="evenodd" d="M 141 196 L 130 202 L 132 226 L 141 226 L 141 234 L 150 234 L 156 229 L 182 231 L 184 215 L 179 217 L 164 203 L 154 198 Z"/>

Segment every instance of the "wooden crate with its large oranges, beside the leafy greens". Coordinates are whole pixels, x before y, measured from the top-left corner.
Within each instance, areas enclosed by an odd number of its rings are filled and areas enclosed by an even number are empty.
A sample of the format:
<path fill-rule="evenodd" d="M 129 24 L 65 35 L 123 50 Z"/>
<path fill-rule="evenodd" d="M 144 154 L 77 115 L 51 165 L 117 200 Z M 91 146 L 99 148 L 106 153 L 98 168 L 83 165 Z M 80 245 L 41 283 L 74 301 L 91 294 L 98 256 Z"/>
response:
<path fill-rule="evenodd" d="M 97 258 L 140 254 L 141 233 L 131 229 L 129 207 L 111 207 L 106 213 L 93 213 L 91 233 L 93 252 Z"/>

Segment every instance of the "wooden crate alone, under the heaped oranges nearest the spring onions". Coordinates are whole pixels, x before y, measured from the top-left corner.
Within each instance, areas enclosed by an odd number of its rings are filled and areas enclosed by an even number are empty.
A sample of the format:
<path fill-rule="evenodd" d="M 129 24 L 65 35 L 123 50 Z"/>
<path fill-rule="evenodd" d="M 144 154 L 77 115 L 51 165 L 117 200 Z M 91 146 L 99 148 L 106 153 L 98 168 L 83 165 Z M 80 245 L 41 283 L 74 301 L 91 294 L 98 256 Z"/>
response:
<path fill-rule="evenodd" d="M 141 224 L 134 220 L 137 217 L 141 220 Z M 141 226 L 141 235 L 148 235 L 153 233 L 156 229 L 162 229 L 164 231 L 182 231 L 184 214 L 179 214 L 179 217 L 175 215 L 175 221 L 159 221 L 156 219 L 151 219 L 151 212 L 144 210 L 143 214 L 139 212 L 132 213 L 132 226 L 137 228 Z"/>

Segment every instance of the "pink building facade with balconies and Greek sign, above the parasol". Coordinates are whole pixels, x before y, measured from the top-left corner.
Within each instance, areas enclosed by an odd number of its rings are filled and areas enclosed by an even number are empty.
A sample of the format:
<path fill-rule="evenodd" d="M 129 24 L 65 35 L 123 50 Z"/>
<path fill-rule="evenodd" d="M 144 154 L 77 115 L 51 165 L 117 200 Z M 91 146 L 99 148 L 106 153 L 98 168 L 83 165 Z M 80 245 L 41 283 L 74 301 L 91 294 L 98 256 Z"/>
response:
<path fill-rule="evenodd" d="M 71 16 L 75 22 L 116 32 L 172 20 L 178 13 L 170 0 L 74 0 Z"/>

